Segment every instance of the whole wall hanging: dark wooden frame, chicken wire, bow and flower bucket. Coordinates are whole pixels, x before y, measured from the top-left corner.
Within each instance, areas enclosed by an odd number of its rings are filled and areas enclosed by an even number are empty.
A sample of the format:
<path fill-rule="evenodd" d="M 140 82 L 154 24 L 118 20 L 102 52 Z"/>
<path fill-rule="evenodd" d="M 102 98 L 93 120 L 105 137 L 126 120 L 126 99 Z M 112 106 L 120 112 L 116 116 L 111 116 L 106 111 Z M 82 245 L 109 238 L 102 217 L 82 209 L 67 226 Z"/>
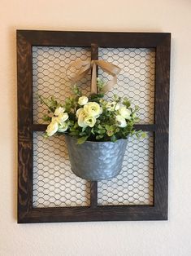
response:
<path fill-rule="evenodd" d="M 167 219 L 170 44 L 17 31 L 18 223 Z"/>

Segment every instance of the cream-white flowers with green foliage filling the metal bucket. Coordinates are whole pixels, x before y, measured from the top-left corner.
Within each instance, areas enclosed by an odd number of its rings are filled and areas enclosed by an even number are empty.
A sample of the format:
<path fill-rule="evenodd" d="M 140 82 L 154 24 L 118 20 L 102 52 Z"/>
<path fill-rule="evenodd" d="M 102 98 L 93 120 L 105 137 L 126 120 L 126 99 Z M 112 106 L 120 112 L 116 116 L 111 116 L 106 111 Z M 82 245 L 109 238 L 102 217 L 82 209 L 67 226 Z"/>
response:
<path fill-rule="evenodd" d="M 131 107 L 125 97 L 114 95 L 112 100 L 104 99 L 104 82 L 97 79 L 98 93 L 82 95 L 74 86 L 74 95 L 59 103 L 54 97 L 45 99 L 39 96 L 41 104 L 46 104 L 48 113 L 43 117 L 49 125 L 45 137 L 54 134 L 67 134 L 75 137 L 77 143 L 89 141 L 112 141 L 127 139 L 128 135 L 144 137 L 145 133 L 135 130 L 134 124 L 138 107 Z"/>

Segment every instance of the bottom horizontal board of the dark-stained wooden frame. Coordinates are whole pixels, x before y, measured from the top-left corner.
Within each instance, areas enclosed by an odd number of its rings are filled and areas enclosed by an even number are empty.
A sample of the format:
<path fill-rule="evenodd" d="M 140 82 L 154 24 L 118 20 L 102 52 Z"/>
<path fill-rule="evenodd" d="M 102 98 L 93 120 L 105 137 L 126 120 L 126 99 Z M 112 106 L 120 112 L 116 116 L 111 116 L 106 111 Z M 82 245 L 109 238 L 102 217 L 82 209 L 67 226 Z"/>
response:
<path fill-rule="evenodd" d="M 20 223 L 163 220 L 150 205 L 33 208 Z"/>

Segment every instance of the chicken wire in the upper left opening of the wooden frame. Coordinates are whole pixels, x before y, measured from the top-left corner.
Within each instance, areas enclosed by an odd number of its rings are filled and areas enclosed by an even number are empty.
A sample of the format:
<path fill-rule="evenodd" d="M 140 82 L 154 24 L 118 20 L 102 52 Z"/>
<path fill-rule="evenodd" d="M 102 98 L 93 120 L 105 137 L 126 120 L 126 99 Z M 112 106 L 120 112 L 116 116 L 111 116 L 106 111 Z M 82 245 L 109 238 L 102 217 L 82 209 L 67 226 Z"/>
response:
<path fill-rule="evenodd" d="M 44 98 L 54 96 L 64 100 L 72 95 L 70 78 L 76 68 L 70 68 L 74 60 L 91 60 L 90 48 L 82 47 L 44 47 L 33 46 L 33 121 L 44 123 L 43 115 L 47 112 L 38 95 Z M 83 94 L 90 92 L 91 72 L 79 84 Z"/>

